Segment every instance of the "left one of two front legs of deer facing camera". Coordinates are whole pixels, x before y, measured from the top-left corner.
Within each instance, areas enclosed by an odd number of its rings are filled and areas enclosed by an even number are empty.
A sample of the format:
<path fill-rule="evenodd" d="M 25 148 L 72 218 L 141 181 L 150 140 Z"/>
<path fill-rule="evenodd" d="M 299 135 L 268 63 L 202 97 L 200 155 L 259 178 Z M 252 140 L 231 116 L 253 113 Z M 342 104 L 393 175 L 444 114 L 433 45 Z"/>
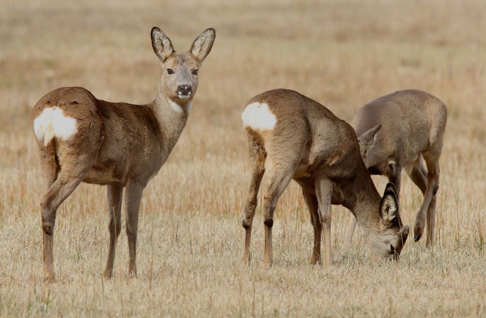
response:
<path fill-rule="evenodd" d="M 122 186 L 107 185 L 108 190 L 108 213 L 109 213 L 109 243 L 108 260 L 103 277 L 111 278 L 113 274 L 113 263 L 115 261 L 116 242 L 121 231 L 121 210 L 122 210 Z"/>

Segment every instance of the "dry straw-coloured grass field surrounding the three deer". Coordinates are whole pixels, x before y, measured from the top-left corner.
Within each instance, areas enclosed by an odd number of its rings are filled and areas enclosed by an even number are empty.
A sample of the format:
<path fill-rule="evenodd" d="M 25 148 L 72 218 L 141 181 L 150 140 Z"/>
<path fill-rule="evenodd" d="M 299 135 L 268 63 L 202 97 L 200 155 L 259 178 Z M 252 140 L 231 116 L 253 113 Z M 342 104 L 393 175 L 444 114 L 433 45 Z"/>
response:
<path fill-rule="evenodd" d="M 0 7 L 1 317 L 486 316 L 485 1 L 1 0 Z M 207 27 L 217 35 L 180 141 L 144 191 L 138 279 L 127 278 L 124 231 L 114 278 L 102 279 L 106 190 L 82 184 L 57 212 L 57 281 L 43 284 L 44 189 L 30 110 L 62 86 L 150 102 L 161 75 L 154 25 L 176 50 L 189 49 Z M 360 235 L 345 246 L 352 215 L 333 207 L 333 264 L 312 266 L 310 217 L 292 182 L 275 212 L 274 266 L 262 266 L 260 207 L 252 265 L 240 264 L 249 174 L 240 114 L 252 96 L 281 87 L 346 121 L 398 89 L 444 101 L 433 249 L 409 238 L 398 263 L 371 264 Z M 382 192 L 385 178 L 374 180 Z M 413 225 L 422 195 L 402 180 L 400 211 Z"/>

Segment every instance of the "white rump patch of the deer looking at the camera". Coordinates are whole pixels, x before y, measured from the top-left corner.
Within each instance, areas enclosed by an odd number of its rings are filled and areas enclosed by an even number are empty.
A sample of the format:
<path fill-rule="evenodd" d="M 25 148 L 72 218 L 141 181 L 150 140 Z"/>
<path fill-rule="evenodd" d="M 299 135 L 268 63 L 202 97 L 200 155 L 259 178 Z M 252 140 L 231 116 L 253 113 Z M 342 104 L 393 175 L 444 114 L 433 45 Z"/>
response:
<path fill-rule="evenodd" d="M 61 108 L 45 108 L 34 120 L 34 133 L 40 142 L 47 144 L 55 137 L 68 140 L 77 132 L 74 118 L 64 116 Z"/>

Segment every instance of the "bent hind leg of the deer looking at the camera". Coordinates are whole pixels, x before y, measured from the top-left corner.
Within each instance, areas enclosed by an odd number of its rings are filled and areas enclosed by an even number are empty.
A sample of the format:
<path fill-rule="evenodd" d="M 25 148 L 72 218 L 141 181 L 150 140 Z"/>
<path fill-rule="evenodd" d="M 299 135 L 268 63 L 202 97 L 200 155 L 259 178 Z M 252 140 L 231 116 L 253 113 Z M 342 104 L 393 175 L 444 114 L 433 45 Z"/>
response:
<path fill-rule="evenodd" d="M 42 242 L 43 242 L 43 280 L 54 280 L 53 236 L 57 209 L 62 202 L 81 183 L 92 163 L 92 154 L 72 154 L 69 149 L 63 153 L 60 162 L 62 170 L 52 186 L 42 197 L 40 203 Z"/>

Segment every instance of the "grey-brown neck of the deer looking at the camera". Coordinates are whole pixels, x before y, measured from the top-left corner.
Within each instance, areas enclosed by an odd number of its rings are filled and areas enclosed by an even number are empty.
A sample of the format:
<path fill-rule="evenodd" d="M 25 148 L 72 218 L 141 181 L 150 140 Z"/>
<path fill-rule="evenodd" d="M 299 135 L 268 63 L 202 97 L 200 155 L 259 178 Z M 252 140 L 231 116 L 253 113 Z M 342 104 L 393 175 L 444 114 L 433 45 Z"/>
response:
<path fill-rule="evenodd" d="M 179 140 L 191 109 L 192 100 L 188 102 L 174 102 L 162 93 L 161 88 L 155 100 L 150 104 L 160 125 L 163 141 L 162 148 L 169 156 L 172 148 Z"/>

